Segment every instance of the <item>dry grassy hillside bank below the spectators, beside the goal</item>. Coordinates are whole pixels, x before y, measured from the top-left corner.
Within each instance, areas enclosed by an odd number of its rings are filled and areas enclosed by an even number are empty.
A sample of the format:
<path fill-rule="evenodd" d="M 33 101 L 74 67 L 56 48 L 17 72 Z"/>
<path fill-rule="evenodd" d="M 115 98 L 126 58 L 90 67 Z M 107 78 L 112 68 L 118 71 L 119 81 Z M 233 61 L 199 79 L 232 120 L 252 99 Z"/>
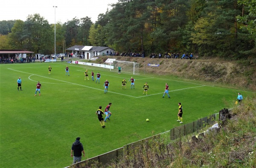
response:
<path fill-rule="evenodd" d="M 181 78 L 230 84 L 256 91 L 256 59 L 224 61 L 217 58 L 193 60 L 165 58 L 134 58 L 99 56 L 96 63 L 103 64 L 108 58 L 140 63 L 140 73 L 174 75 Z M 148 64 L 160 64 L 151 67 Z"/>

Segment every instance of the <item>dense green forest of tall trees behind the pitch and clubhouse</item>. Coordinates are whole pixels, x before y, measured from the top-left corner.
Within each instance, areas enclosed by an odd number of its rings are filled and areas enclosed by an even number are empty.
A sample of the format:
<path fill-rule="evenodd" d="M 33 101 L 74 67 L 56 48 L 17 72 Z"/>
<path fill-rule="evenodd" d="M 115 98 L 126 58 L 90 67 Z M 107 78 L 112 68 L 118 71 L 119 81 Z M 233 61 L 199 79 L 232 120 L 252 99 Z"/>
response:
<path fill-rule="evenodd" d="M 56 53 L 74 45 L 121 52 L 180 52 L 246 59 L 256 56 L 256 0 L 119 0 L 111 10 L 49 24 L 40 14 L 0 21 L 0 49 Z"/>

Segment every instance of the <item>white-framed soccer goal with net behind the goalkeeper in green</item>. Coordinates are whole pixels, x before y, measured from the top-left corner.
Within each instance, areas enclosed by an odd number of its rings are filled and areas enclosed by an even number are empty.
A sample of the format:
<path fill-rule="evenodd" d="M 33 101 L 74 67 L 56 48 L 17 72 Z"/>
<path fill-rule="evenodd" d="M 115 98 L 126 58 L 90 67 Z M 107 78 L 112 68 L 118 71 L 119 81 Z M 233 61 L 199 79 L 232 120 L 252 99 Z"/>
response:
<path fill-rule="evenodd" d="M 111 64 L 112 65 L 112 64 Z M 113 61 L 113 71 L 118 72 L 118 67 L 121 67 L 121 72 L 139 74 L 140 63 L 128 61 Z"/>

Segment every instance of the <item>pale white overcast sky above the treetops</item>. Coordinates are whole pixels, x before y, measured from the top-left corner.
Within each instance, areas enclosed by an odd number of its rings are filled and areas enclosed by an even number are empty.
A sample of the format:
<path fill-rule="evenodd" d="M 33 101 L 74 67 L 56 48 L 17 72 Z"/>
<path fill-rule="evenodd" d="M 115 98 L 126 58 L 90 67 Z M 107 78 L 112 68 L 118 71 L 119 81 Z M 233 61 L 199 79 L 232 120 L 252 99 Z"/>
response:
<path fill-rule="evenodd" d="M 23 20 L 30 14 L 38 13 L 49 24 L 90 17 L 92 22 L 98 15 L 111 9 L 108 4 L 117 3 L 118 0 L 3 0 L 1 1 L 0 20 Z M 53 7 L 57 6 L 57 8 Z M 56 12 L 56 13 L 55 13 Z"/>

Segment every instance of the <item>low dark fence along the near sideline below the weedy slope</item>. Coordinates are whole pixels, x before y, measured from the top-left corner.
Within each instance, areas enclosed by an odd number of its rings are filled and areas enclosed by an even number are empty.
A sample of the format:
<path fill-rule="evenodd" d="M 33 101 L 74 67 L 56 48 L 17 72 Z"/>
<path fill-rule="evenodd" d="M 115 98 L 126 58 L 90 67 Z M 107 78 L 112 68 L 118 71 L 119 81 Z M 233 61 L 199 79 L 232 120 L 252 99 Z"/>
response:
<path fill-rule="evenodd" d="M 211 116 L 198 119 L 194 122 L 172 128 L 170 131 L 167 131 L 167 132 L 170 132 L 171 140 L 175 140 L 177 138 L 180 138 L 180 136 L 187 135 L 187 134 L 195 134 L 195 133 L 198 134 L 198 130 L 200 130 L 202 127 L 205 127 L 206 125 L 214 124 L 217 115 L 218 115 L 218 113 L 212 114 Z M 95 162 L 99 162 L 102 165 L 106 165 L 110 161 L 118 161 L 118 158 L 122 158 L 122 156 L 124 155 L 124 152 L 128 153 L 129 149 L 132 146 L 138 146 L 141 143 L 151 140 L 151 139 L 158 139 L 158 138 L 160 138 L 161 134 L 162 133 L 142 139 L 137 142 L 133 142 L 128 145 L 124 145 L 122 148 L 115 149 L 113 151 L 110 151 L 108 153 L 105 153 L 105 154 L 102 154 L 99 156 L 95 156 L 93 158 L 81 161 L 79 163 L 70 165 L 65 168 L 87 168 L 87 167 L 91 167 L 91 165 L 93 165 Z"/>

